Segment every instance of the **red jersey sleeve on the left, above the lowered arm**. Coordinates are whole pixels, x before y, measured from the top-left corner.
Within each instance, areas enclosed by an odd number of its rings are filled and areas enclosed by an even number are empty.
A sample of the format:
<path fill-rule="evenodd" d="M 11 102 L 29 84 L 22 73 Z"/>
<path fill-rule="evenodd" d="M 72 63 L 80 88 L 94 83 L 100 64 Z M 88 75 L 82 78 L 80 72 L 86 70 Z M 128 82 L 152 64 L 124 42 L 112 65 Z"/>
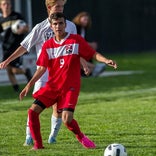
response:
<path fill-rule="evenodd" d="M 42 46 L 42 51 L 41 51 L 39 58 L 37 59 L 36 65 L 44 66 L 47 68 L 48 62 L 49 62 L 49 57 L 47 54 L 47 48 L 46 48 L 46 42 L 45 42 Z"/>

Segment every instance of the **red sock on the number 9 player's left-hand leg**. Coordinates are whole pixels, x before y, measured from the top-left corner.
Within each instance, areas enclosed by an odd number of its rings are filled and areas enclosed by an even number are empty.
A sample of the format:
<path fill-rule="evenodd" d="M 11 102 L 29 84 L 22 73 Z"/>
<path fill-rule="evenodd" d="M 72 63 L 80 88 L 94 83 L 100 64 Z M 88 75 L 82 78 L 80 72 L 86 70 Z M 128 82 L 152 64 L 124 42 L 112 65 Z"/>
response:
<path fill-rule="evenodd" d="M 34 139 L 34 147 L 43 148 L 42 137 L 40 133 L 39 114 L 34 112 L 32 109 L 29 109 L 28 115 L 29 115 L 30 132 L 32 138 Z"/>

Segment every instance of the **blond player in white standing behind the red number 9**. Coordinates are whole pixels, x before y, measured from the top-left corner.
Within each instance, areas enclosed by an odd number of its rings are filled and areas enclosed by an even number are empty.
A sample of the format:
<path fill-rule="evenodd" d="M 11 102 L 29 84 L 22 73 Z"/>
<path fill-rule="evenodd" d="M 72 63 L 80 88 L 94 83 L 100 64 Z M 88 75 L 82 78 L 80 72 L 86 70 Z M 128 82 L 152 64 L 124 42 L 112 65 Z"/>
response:
<path fill-rule="evenodd" d="M 48 16 L 54 12 L 63 12 L 64 4 L 66 3 L 66 1 L 67 0 L 45 0 L 45 5 L 47 8 Z M 77 33 L 76 26 L 68 20 L 66 22 L 67 22 L 66 31 L 72 34 L 76 34 Z M 50 28 L 50 22 L 49 22 L 49 19 L 47 18 L 41 23 L 37 24 L 32 29 L 32 31 L 21 42 L 21 46 L 19 46 L 17 50 L 7 60 L 0 63 L 0 69 L 5 68 L 15 58 L 23 55 L 27 51 L 29 52 L 33 46 L 35 46 L 36 48 L 36 53 L 37 53 L 37 58 L 38 58 L 40 55 L 43 43 L 51 37 L 53 37 L 53 31 Z M 35 83 L 33 93 L 45 85 L 47 81 L 47 77 L 48 77 L 48 72 L 45 72 L 45 74 Z M 28 120 L 29 119 L 27 119 L 26 140 L 25 140 L 24 146 L 28 146 L 33 143 L 33 140 L 30 134 L 30 128 L 28 125 Z M 51 117 L 51 133 L 49 135 L 48 143 L 56 142 L 56 136 L 60 129 L 61 123 L 62 123 L 61 114 L 57 113 L 57 105 L 54 105 L 53 114 Z"/>

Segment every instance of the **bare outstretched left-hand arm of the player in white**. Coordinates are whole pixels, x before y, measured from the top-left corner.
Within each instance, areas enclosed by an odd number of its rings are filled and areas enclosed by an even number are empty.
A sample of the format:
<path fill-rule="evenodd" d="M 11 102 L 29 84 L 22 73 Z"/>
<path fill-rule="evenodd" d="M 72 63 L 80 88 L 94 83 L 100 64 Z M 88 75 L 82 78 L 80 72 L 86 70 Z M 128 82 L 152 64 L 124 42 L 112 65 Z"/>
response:
<path fill-rule="evenodd" d="M 6 68 L 6 66 L 19 56 L 23 55 L 26 53 L 27 50 L 23 46 L 19 46 L 12 55 L 10 55 L 5 61 L 0 63 L 0 69 Z"/>

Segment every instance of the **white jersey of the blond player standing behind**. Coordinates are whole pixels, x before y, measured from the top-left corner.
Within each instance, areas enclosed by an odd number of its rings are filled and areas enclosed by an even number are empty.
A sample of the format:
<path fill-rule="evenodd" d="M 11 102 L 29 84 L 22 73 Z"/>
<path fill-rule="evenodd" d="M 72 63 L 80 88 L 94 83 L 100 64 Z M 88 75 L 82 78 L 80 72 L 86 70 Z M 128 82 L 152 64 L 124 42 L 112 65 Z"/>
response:
<path fill-rule="evenodd" d="M 76 26 L 71 21 L 66 20 L 66 32 L 71 34 L 76 34 Z M 29 52 L 30 49 L 35 46 L 37 59 L 41 53 L 43 43 L 53 37 L 53 31 L 50 28 L 50 23 L 48 18 L 42 21 L 32 29 L 32 31 L 25 37 L 21 42 L 21 46 L 27 49 Z M 48 79 L 48 72 L 45 72 L 44 75 L 38 81 L 46 82 Z"/>

